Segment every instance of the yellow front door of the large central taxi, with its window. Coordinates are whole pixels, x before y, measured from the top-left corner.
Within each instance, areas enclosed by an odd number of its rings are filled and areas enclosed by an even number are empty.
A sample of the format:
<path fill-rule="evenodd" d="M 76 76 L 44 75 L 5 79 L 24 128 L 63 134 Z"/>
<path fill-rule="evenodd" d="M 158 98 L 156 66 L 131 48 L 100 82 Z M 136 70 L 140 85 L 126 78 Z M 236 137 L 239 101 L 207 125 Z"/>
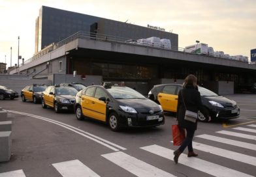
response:
<path fill-rule="evenodd" d="M 108 99 L 108 94 L 103 88 L 97 87 L 92 99 L 93 102 L 91 102 L 91 109 L 93 109 L 93 117 L 106 122 L 106 102 L 99 100 L 103 97 Z"/>

